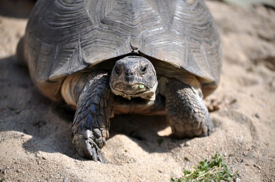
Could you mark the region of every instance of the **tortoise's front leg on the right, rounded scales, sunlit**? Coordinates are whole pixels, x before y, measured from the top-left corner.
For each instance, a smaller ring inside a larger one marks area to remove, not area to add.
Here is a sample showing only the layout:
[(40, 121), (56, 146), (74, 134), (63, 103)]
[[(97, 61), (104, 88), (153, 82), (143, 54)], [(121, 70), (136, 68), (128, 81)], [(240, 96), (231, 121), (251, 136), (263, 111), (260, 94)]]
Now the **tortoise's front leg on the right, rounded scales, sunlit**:
[(210, 135), (213, 124), (202, 98), (189, 85), (173, 80), (167, 84), (166, 113), (178, 138)]

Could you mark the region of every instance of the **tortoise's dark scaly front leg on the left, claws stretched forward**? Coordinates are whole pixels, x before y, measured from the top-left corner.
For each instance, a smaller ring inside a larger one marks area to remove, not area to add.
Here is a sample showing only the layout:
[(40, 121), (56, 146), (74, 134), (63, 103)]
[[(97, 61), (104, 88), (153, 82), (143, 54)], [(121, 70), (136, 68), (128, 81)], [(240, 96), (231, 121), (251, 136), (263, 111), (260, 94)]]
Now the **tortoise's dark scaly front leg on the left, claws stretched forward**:
[(105, 163), (101, 148), (109, 137), (114, 96), (107, 73), (91, 73), (78, 99), (73, 122), (73, 144), (82, 157)]

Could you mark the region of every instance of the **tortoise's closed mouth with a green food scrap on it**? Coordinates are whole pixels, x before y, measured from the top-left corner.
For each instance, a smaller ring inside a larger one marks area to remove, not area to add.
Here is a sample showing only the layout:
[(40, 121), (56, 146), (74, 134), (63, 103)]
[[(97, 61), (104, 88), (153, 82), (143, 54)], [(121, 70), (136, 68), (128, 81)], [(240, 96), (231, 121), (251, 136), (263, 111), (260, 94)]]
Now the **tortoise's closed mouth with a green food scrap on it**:
[(116, 92), (123, 93), (124, 95), (134, 96), (147, 92), (150, 87), (146, 86), (144, 83), (125, 84), (123, 82), (119, 82), (115, 84), (113, 89), (116, 90)]

